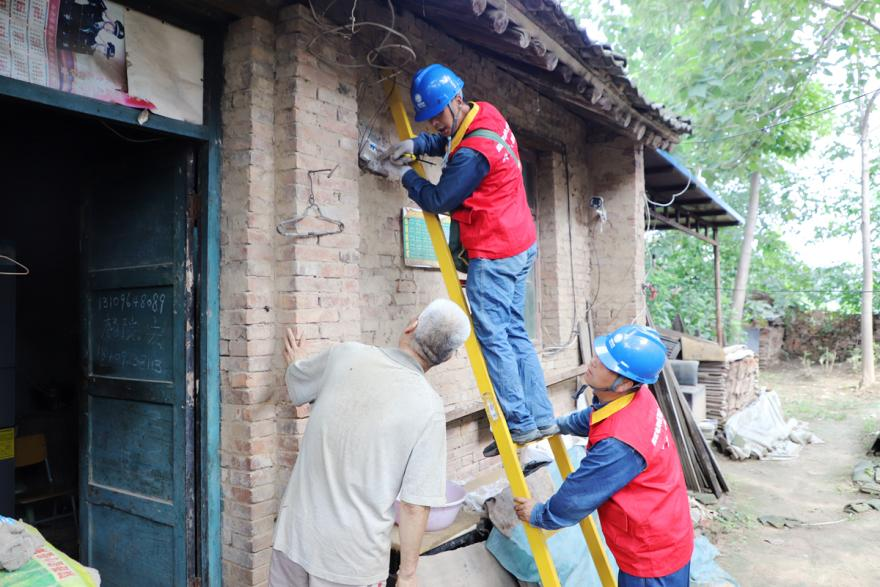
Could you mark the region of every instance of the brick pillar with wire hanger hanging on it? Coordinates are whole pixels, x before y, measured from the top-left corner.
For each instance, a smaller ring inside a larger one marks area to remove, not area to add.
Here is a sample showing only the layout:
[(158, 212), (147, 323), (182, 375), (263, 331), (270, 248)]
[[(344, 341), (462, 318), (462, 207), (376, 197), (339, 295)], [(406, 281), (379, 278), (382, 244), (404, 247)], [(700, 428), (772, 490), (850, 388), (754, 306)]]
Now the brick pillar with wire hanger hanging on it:
[[(276, 27), (276, 221), (314, 214), (314, 208), (307, 212), (313, 197), (325, 216), (345, 227), (340, 234), (321, 237), (275, 234), (276, 334), (281, 338), (285, 328), (295, 327), (305, 344), (319, 351), (334, 342), (360, 339), (358, 106), (356, 80), (306, 51), (317, 29), (304, 10), (283, 10)], [(338, 37), (328, 37), (322, 45), (330, 58), (346, 50)], [(302, 226), (306, 231), (328, 228), (311, 220)], [(279, 361), (283, 371), (280, 356)], [(283, 388), (277, 401), (275, 487), (280, 497), (305, 431), (308, 406), (291, 405)]]

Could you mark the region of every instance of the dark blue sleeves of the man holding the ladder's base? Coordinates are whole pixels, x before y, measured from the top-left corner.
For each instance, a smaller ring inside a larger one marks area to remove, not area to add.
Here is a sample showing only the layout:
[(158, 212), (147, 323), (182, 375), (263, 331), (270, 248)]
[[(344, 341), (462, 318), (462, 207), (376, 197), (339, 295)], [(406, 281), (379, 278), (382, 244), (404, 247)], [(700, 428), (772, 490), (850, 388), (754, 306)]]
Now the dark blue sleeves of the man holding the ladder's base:
[[(560, 431), (588, 436), (590, 417), (603, 405), (594, 398), (589, 408), (558, 418)], [(644, 457), (623, 441), (606, 438), (597, 442), (559, 490), (545, 503), (535, 505), (531, 524), (548, 530), (577, 524), (635, 479), (646, 466)]]

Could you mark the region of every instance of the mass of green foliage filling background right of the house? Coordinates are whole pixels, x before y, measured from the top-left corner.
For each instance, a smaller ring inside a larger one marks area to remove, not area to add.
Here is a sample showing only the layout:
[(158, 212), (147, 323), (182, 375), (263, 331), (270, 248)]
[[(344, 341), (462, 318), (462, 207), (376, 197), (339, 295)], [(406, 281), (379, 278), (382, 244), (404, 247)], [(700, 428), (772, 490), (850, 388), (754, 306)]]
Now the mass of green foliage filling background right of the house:
[[(831, 141), (818, 169), (796, 161), (821, 137), (852, 133), (858, 108), (813, 113), (862, 93), (872, 78), (876, 84), (880, 33), (814, 0), (563, 4), (576, 18), (591, 20), (629, 57), (629, 73), (643, 94), (692, 120), (694, 134), (679, 145), (676, 157), (702, 170), (706, 183), (741, 213), (747, 207), (748, 175), (761, 173), (744, 321), (792, 309), (858, 313), (861, 268), (812, 269), (782, 236), (817, 215), (833, 218), (817, 238), (851, 235), (858, 228), (857, 181), (840, 185), (829, 179), (840, 160), (856, 155), (851, 141)], [(856, 13), (877, 22), (880, 2), (861, 2)], [(846, 84), (840, 83), (841, 71)], [(872, 157), (876, 185), (880, 157), (877, 152)], [(875, 207), (874, 230), (880, 234), (880, 204)], [(741, 240), (741, 229), (722, 230), (719, 236), (724, 309), (730, 307)], [(880, 259), (880, 238), (874, 243)], [(689, 331), (714, 335), (711, 247), (666, 231), (651, 238), (648, 250), (647, 281), (657, 288), (649, 303), (655, 321), (669, 325), (679, 314)], [(875, 305), (878, 301), (880, 295)]]

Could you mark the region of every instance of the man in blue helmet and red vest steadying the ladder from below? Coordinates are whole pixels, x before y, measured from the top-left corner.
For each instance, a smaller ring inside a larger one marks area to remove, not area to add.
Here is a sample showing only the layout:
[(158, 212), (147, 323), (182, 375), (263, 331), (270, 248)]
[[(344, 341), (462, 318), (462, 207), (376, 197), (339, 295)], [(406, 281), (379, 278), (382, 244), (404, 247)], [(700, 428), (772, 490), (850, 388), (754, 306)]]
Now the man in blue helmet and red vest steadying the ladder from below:
[(657, 381), (666, 347), (656, 330), (624, 326), (596, 338), (595, 348), (584, 376), (593, 405), (557, 419), (563, 434), (589, 437), (587, 456), (545, 503), (515, 498), (517, 516), (555, 530), (598, 509), (619, 587), (687, 587), (694, 548), (687, 489), (646, 385)]

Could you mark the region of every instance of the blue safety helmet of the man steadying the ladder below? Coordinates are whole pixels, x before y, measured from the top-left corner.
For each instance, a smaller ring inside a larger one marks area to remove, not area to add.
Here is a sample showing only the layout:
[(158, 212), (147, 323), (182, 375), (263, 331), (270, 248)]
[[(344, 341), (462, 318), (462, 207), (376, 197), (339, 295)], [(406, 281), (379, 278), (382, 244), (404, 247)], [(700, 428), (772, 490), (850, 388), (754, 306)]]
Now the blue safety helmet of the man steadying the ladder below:
[(595, 346), (603, 365), (638, 383), (657, 381), (666, 362), (666, 345), (653, 328), (621, 326), (607, 336), (597, 336)]

